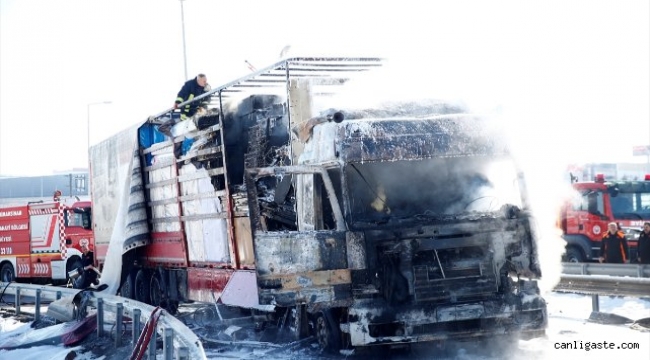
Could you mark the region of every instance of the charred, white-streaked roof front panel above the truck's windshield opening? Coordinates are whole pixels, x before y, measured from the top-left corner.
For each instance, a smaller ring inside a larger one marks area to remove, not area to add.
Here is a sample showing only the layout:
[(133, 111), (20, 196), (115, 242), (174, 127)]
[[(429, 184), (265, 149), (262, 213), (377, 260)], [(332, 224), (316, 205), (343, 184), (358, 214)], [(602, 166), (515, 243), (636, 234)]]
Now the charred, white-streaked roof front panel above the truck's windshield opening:
[(343, 161), (395, 161), (506, 153), (485, 120), (474, 116), (438, 119), (344, 121), (337, 135)]

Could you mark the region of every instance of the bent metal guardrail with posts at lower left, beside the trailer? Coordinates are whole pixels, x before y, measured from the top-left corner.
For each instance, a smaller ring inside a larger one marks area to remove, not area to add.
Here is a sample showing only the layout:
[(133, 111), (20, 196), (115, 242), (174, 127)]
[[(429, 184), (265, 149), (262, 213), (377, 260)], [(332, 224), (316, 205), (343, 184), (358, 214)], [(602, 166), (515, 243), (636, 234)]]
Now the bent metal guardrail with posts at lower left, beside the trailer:
[[(5, 288), (6, 287), (6, 288)], [(23, 295), (33, 295), (35, 298), (35, 319), (40, 317), (40, 304), (43, 300), (55, 301), (62, 297), (74, 296), (79, 293), (77, 289), (62, 288), (56, 286), (45, 285), (31, 285), (31, 284), (18, 284), (18, 283), (3, 283), (0, 282), (0, 291), (4, 290), (5, 294), (12, 294), (15, 296), (16, 313), (20, 313), (21, 297)], [(104, 312), (109, 311), (115, 314), (116, 333), (121, 332), (121, 320), (123, 316), (133, 319), (133, 345), (135, 346), (142, 327), (139, 324), (144, 324), (149, 320), (149, 317), (154, 311), (154, 307), (119, 296), (103, 294), (101, 292), (93, 293), (90, 299), (90, 306), (97, 308), (97, 334), (103, 335), (103, 318)], [(136, 328), (137, 331), (136, 331)], [(200, 339), (192, 332), (183, 322), (175, 317), (163, 312), (162, 316), (158, 319), (156, 326), (156, 333), (160, 334), (164, 343), (165, 360), (173, 359), (173, 349), (176, 349), (177, 359), (206, 359), (205, 350)], [(121, 345), (121, 337), (116, 336), (116, 346)], [(149, 343), (148, 353), (156, 358), (156, 341), (152, 339)]]

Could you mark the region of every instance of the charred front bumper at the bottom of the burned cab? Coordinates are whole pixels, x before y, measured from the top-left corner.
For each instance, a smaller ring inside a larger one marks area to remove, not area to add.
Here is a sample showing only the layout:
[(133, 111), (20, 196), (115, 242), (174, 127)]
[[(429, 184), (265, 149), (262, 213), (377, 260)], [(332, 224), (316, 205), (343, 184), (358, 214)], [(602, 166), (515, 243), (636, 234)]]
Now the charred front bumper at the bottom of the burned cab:
[(351, 343), (398, 344), (544, 331), (546, 304), (539, 295), (522, 291), (506, 299), (400, 307), (357, 301), (349, 310)]

